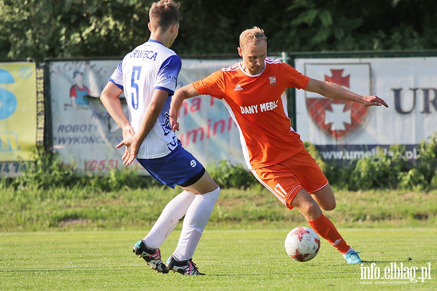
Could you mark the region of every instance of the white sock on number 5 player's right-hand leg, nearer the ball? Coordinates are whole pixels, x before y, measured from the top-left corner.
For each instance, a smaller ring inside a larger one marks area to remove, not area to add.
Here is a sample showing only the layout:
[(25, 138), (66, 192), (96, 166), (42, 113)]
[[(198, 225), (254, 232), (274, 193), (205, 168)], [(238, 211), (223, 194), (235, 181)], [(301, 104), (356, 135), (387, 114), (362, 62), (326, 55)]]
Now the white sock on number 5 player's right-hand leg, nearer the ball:
[(193, 258), (194, 251), (202, 237), (203, 229), (211, 216), (219, 194), (220, 188), (218, 187), (210, 193), (196, 195), (193, 203), (186, 211), (181, 236), (173, 253), (174, 259), (185, 261)]

